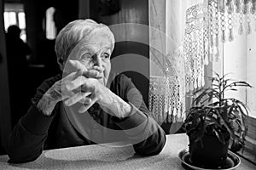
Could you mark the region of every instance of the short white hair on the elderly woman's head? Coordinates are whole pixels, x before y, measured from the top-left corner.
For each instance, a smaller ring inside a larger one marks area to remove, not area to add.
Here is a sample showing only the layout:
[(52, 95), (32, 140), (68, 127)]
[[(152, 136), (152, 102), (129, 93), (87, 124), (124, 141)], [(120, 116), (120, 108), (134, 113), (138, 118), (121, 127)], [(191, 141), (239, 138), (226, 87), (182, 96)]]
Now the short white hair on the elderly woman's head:
[(67, 60), (68, 55), (81, 40), (89, 39), (98, 32), (103, 32), (107, 35), (113, 51), (113, 32), (110, 31), (108, 26), (96, 23), (96, 21), (90, 19), (74, 20), (68, 23), (67, 26), (60, 31), (55, 41), (55, 54), (59, 64), (61, 60)]

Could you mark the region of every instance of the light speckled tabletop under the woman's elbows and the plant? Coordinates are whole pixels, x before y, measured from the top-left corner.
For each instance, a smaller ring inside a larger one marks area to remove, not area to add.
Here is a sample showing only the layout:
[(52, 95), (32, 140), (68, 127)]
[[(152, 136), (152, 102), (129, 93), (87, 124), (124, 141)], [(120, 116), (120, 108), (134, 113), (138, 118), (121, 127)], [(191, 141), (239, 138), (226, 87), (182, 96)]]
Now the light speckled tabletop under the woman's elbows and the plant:
[[(137, 156), (132, 146), (109, 147), (101, 144), (44, 150), (36, 161), (9, 164), (8, 156), (0, 156), (0, 169), (184, 169), (178, 158), (180, 150), (188, 147), (186, 134), (166, 135), (166, 145), (157, 156)], [(255, 170), (256, 166), (241, 158), (240, 170)]]

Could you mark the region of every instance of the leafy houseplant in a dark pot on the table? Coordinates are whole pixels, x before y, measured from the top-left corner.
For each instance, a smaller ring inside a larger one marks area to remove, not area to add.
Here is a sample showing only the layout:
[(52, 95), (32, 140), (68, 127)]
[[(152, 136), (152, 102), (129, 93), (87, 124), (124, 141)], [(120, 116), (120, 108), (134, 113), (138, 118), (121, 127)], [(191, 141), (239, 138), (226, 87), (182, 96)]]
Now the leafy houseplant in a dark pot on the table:
[(202, 167), (224, 165), (230, 141), (243, 146), (247, 134), (247, 106), (239, 99), (225, 98), (225, 93), (251, 85), (215, 74), (216, 77), (211, 77), (211, 87), (193, 93), (196, 97), (184, 122), (190, 161)]

